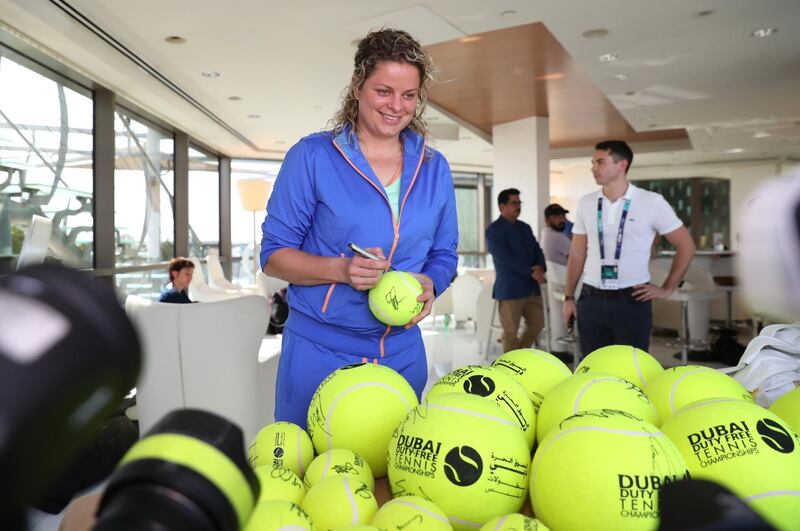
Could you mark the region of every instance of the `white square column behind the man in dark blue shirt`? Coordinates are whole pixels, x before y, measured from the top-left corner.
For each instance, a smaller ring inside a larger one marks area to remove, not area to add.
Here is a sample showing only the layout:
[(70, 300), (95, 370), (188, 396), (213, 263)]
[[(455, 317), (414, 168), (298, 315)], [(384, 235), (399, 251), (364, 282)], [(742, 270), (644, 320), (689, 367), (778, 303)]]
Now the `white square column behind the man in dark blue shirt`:
[(497, 194), (506, 188), (516, 188), (523, 202), (520, 219), (533, 228), (537, 239), (544, 226), (544, 207), (550, 204), (548, 135), (548, 119), (536, 116), (492, 128), (492, 220), (500, 215)]

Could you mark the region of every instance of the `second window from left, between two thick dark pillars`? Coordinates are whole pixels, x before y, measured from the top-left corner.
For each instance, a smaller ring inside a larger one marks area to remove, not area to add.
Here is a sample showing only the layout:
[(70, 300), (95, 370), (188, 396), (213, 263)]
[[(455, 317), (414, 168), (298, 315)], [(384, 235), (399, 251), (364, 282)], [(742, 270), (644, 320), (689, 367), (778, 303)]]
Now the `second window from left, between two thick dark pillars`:
[(170, 260), (175, 256), (172, 135), (122, 108), (114, 129), (116, 265)]

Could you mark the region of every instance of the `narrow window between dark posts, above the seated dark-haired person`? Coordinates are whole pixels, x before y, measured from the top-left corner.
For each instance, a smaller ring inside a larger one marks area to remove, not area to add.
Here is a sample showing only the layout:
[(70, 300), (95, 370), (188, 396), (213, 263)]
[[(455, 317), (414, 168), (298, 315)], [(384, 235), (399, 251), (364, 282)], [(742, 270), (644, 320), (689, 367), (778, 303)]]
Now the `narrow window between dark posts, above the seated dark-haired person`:
[(189, 254), (219, 251), (219, 159), (189, 147)]

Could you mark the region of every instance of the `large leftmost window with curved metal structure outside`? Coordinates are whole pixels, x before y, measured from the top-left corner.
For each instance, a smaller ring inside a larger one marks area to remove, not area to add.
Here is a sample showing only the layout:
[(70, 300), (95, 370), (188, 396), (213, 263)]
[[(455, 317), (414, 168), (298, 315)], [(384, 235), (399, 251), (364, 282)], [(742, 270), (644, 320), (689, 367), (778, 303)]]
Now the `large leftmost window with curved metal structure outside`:
[(48, 257), (93, 266), (93, 112), (90, 91), (0, 46), (0, 273), (34, 215), (52, 221)]

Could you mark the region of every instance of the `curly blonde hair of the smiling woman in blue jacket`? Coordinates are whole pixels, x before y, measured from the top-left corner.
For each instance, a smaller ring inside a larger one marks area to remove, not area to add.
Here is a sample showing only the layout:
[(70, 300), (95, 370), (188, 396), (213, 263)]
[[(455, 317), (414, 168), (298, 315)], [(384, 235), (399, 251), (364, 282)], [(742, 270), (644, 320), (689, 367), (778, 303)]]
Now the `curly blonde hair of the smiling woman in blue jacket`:
[(428, 89), (434, 78), (435, 67), (422, 45), (411, 35), (398, 29), (371, 31), (359, 41), (353, 66), (353, 80), (342, 92), (342, 106), (331, 120), (333, 133), (338, 134), (349, 126), (350, 134), (356, 134), (358, 100), (355, 89), (364, 86), (364, 81), (382, 61), (408, 63), (417, 67), (420, 80), (417, 110), (408, 127), (423, 137), (427, 136), (428, 127), (422, 115), (428, 103)]

